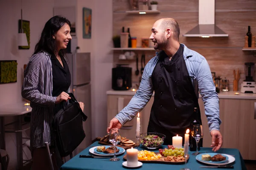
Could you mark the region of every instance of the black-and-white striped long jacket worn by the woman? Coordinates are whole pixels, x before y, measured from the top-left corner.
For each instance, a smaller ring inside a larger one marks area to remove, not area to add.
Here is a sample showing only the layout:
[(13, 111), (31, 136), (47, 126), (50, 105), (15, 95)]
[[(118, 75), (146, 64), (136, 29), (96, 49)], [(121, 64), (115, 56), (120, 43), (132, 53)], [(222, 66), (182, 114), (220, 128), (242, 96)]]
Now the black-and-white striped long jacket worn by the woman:
[[(67, 62), (66, 59), (65, 61)], [(45, 142), (50, 146), (55, 144), (52, 121), (57, 97), (52, 96), (52, 88), (51, 55), (45, 51), (33, 54), (24, 71), (21, 91), (22, 97), (29, 100), (32, 107), (30, 122), (32, 148), (44, 147)]]

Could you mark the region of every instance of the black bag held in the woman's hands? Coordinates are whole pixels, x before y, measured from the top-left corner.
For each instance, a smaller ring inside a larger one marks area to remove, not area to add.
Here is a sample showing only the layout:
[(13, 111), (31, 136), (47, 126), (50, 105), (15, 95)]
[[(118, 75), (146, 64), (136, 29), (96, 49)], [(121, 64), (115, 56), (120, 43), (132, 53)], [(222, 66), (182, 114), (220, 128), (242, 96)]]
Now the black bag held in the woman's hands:
[(81, 110), (74, 95), (72, 93), (69, 95), (71, 99), (66, 105), (62, 105), (53, 119), (56, 145), (61, 157), (70, 155), (85, 137), (83, 121), (86, 121), (87, 116)]

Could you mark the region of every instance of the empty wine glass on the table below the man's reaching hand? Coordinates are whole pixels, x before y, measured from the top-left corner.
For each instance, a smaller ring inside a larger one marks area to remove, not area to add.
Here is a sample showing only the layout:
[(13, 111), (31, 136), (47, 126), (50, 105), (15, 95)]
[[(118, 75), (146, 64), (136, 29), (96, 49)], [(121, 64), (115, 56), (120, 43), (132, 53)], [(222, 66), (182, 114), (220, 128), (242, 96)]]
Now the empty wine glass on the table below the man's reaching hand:
[(109, 142), (114, 146), (114, 157), (110, 161), (119, 161), (119, 158), (116, 158), (116, 144), (121, 142), (120, 129), (112, 128), (109, 132)]

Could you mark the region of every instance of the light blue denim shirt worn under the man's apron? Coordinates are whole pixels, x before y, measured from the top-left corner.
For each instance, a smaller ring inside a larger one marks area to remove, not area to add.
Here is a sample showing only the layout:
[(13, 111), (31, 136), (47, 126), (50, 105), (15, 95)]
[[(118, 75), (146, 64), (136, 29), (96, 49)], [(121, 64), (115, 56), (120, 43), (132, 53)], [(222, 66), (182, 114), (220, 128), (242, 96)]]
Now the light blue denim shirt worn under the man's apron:
[[(189, 72), (189, 77), (198, 97), (198, 92), (204, 102), (205, 115), (207, 116), (209, 130), (220, 130), (221, 119), (219, 118), (219, 99), (215, 91), (215, 85), (212, 81), (212, 74), (206, 59), (186, 45), (181, 44), (184, 48), (183, 57)], [(150, 100), (153, 94), (153, 85), (151, 75), (155, 65), (158, 62), (161, 51), (145, 65), (140, 88), (133, 96), (129, 104), (122, 109), (115, 117), (124, 125), (131, 121), (134, 116), (140, 112)]]

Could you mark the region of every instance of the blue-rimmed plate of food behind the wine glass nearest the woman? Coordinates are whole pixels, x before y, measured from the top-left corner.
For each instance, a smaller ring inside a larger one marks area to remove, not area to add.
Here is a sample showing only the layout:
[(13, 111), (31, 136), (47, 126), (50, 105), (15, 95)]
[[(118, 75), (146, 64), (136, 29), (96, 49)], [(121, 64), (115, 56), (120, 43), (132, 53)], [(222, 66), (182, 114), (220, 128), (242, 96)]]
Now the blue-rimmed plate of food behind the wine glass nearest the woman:
[[(90, 153), (98, 156), (112, 156), (114, 155), (114, 147), (113, 146), (96, 146), (92, 147), (89, 150)], [(125, 149), (122, 147), (116, 147), (116, 155), (122, 154), (125, 152)]]

